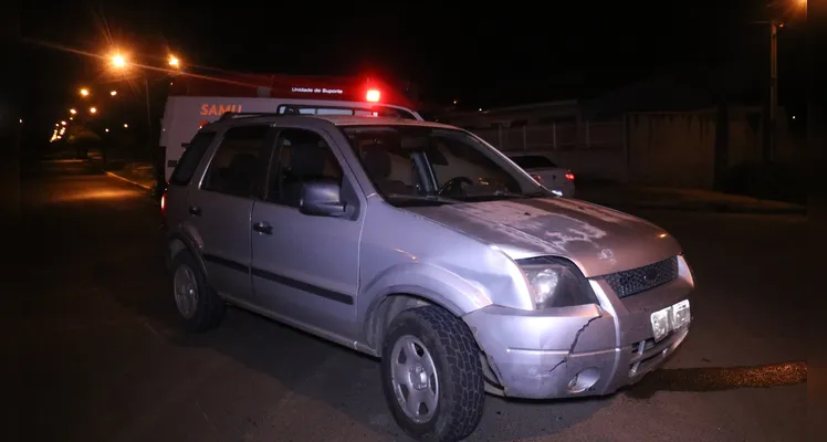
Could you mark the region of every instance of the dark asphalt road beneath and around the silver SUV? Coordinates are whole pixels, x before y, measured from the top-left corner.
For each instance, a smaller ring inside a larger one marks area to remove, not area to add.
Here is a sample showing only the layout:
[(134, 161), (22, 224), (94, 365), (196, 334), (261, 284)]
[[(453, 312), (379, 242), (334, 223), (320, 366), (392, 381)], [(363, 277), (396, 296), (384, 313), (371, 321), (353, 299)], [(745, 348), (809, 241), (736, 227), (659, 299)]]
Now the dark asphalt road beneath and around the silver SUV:
[[(0, 439), (407, 440), (370, 358), (238, 309), (217, 330), (181, 333), (155, 249), (158, 208), (82, 162), (39, 170), (13, 233), (25, 246), (4, 264)], [(471, 440), (803, 440), (806, 220), (638, 214), (676, 235), (693, 266), (685, 345), (611, 397), (489, 397)]]

